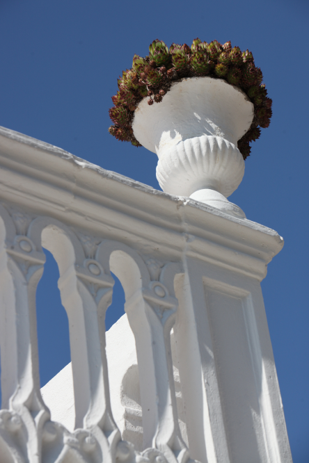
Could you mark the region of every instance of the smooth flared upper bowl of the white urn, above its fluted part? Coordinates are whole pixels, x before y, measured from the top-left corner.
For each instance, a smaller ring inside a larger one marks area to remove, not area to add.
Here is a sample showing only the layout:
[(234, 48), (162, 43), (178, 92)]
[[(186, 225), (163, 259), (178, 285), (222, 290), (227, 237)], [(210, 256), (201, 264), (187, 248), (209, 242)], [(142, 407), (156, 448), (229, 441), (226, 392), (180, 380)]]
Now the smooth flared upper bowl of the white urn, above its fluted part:
[(221, 136), (237, 146), (253, 117), (254, 105), (241, 88), (213, 76), (193, 76), (173, 82), (159, 104), (149, 106), (143, 98), (132, 129), (138, 142), (160, 157), (168, 145), (196, 136)]

